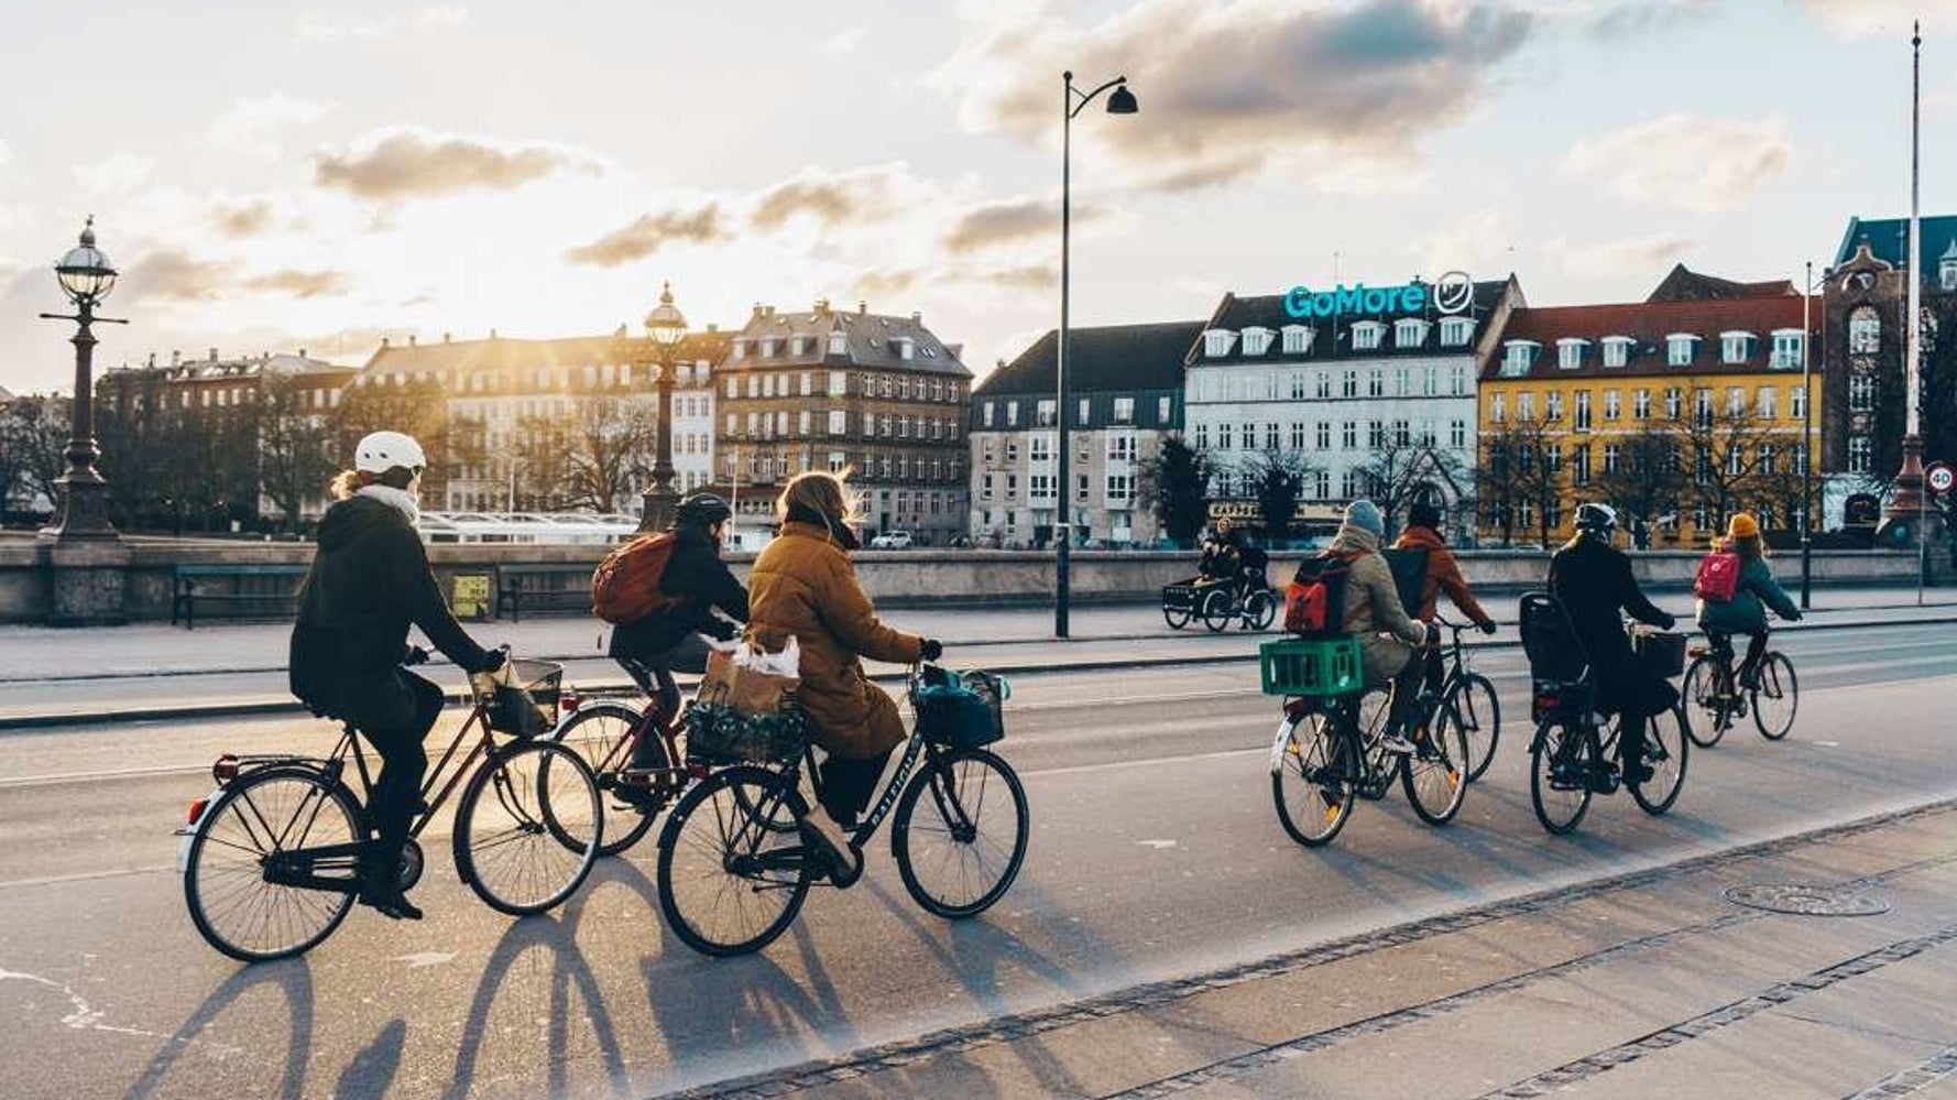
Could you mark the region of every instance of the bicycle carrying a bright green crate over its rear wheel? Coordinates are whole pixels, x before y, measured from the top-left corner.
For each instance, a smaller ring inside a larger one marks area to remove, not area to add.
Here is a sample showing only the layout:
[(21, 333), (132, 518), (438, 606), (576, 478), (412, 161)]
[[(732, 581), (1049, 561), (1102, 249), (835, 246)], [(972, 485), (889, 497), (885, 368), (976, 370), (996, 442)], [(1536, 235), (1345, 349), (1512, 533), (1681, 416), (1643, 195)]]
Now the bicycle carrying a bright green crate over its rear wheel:
[[(1356, 673), (1356, 646), (1352, 652)], [(1266, 683), (1272, 679), (1266, 675)], [(1278, 824), (1305, 848), (1331, 844), (1352, 816), (1354, 797), (1384, 799), (1395, 775), (1423, 822), (1444, 826), (1462, 808), (1468, 738), (1454, 705), (1438, 699), (1415, 752), (1391, 754), (1384, 746), (1386, 722), (1362, 714), (1368, 695), (1346, 689), (1284, 701), (1284, 720), (1270, 744), (1270, 797)]]

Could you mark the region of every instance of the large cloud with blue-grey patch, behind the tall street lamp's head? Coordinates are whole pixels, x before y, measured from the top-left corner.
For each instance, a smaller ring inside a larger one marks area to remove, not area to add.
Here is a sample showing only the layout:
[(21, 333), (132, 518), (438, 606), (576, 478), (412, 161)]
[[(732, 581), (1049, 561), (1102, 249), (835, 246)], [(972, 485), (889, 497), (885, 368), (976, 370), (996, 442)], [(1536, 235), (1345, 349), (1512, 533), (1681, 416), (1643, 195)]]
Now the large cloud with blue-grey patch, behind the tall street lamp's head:
[(1055, 72), (1125, 72), (1141, 114), (1082, 117), (1076, 137), (1164, 190), (1327, 157), (1413, 164), (1417, 141), (1464, 119), (1536, 25), (1513, 0), (1143, 0), (1090, 29), (1055, 4), (965, 16), (930, 82), (963, 96), (969, 129), (1051, 141)]

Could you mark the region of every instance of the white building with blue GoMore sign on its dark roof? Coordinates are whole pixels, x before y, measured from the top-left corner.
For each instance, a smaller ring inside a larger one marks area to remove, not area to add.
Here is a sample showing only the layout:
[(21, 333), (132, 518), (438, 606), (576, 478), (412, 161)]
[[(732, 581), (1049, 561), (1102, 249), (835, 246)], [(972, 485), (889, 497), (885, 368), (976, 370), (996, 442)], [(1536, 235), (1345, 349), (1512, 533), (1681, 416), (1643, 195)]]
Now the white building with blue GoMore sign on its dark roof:
[(1282, 462), (1303, 472), (1305, 532), (1335, 528), (1356, 497), (1388, 511), (1425, 497), (1460, 517), (1452, 534), (1472, 534), (1476, 368), (1525, 299), (1513, 276), (1456, 286), (1450, 301), (1421, 282), (1223, 296), (1184, 372), (1186, 436), (1213, 472), (1211, 513), (1256, 517), (1254, 481)]

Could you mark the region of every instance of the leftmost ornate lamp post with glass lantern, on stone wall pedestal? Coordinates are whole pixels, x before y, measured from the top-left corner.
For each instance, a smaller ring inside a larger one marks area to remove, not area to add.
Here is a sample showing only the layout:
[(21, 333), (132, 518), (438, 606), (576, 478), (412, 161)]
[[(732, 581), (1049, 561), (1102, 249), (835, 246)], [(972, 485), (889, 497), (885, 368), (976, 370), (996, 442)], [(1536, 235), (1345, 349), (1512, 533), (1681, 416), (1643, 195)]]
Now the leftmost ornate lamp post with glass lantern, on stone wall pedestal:
[(115, 266), (96, 249), (96, 219), (82, 227), (82, 239), (67, 256), (55, 264), (55, 278), (61, 280), (63, 294), (74, 303), (74, 313), (41, 313), (49, 321), (74, 321), (74, 429), (68, 435), (68, 472), (55, 483), (61, 485), (61, 517), (53, 527), (41, 530), (43, 538), (117, 538), (115, 525), (110, 523), (108, 480), (96, 470), (102, 448), (96, 446), (96, 335), (90, 329), (96, 321), (104, 325), (127, 325), (114, 317), (96, 317), (96, 305), (115, 288)]

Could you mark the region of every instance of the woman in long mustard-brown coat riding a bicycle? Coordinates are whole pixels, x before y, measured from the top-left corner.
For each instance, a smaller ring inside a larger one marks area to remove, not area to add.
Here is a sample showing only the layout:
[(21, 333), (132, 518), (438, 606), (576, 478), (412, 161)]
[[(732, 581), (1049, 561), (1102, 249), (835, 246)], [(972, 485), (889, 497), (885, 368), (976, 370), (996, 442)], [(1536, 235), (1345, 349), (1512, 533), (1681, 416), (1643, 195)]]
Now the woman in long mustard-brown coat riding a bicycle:
[(795, 476), (775, 501), (781, 534), (755, 558), (748, 636), (765, 650), (796, 638), (802, 650), (796, 701), (808, 736), (824, 750), (822, 806), (802, 820), (804, 840), (824, 851), (830, 877), (855, 881), (861, 857), (849, 848), (857, 814), (904, 744), (896, 701), (863, 673), (861, 658), (890, 664), (935, 662), (943, 646), (892, 630), (857, 583), (849, 552), (859, 548), (855, 495), (828, 472)]

